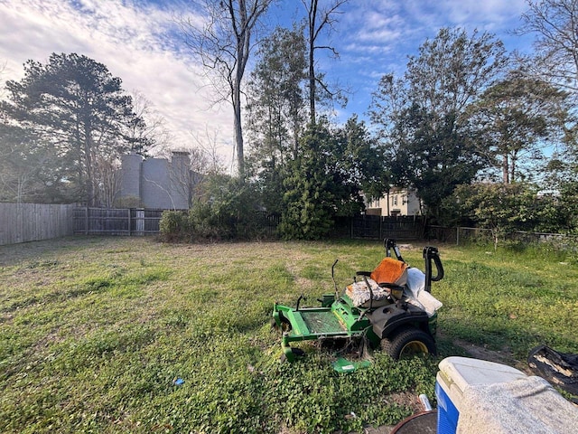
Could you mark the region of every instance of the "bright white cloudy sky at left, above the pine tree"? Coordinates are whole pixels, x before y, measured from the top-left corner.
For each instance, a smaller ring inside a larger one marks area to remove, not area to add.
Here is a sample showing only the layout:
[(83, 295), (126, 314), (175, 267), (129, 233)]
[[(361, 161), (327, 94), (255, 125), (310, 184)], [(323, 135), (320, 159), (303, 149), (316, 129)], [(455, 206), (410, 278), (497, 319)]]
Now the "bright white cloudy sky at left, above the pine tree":
[(46, 62), (52, 52), (77, 52), (107, 65), (126, 91), (149, 99), (175, 137), (190, 146), (191, 131), (219, 131), (230, 156), (228, 105), (210, 107), (202, 71), (179, 47), (179, 11), (117, 0), (0, 0), (0, 64), (4, 80), (20, 80), (23, 62)]

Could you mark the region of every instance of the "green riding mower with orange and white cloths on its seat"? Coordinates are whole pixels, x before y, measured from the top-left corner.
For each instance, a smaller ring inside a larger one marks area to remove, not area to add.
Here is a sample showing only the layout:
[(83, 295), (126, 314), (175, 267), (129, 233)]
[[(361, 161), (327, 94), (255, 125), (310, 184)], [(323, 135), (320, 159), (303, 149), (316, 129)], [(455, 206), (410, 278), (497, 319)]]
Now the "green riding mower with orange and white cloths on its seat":
[[(335, 292), (318, 299), (320, 306), (301, 307), (303, 296), (295, 307), (275, 303), (273, 318), (275, 328), (282, 332), (282, 360), (293, 362), (303, 356), (301, 348), (291, 346), (303, 341), (339, 348), (381, 347), (394, 359), (436, 354), (436, 311), (442, 304), (431, 295), (431, 287), (443, 278), (439, 252), (434, 247), (424, 248), (422, 272), (408, 266), (395, 241), (385, 240), (384, 248), (386, 256), (378, 267), (358, 271), (344, 291), (335, 282), (335, 260), (331, 267)], [(341, 360), (342, 371), (357, 367)]]

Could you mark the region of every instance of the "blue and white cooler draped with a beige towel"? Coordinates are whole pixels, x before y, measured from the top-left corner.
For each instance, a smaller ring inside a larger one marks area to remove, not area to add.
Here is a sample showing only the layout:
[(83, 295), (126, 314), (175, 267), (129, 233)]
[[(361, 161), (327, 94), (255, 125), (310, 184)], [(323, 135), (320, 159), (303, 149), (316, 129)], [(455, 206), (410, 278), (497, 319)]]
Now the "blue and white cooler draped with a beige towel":
[(439, 368), (438, 434), (576, 432), (578, 408), (543, 378), (467, 357), (448, 357)]

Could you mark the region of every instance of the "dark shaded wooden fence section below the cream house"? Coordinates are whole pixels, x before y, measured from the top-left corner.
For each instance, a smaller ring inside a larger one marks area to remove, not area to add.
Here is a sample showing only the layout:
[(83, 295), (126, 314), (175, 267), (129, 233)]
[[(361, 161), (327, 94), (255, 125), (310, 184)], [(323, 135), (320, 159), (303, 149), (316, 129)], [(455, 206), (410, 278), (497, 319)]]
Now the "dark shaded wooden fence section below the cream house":
[(421, 215), (359, 215), (351, 222), (351, 238), (421, 240), (424, 230), (425, 217)]

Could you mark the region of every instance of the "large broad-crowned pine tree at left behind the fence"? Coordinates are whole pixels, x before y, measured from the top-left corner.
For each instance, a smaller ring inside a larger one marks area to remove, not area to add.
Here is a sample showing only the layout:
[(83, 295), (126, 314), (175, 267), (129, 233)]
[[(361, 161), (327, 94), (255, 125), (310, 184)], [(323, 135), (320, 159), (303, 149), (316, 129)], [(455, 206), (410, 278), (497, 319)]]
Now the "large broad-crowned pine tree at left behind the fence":
[(23, 79), (8, 81), (6, 89), (9, 98), (0, 105), (5, 125), (27, 131), (20, 143), (24, 156), (51, 156), (42, 164), (57, 174), (50, 184), (52, 190), (58, 184), (57, 200), (101, 204), (110, 193), (101, 191), (109, 184), (101, 177), (110, 171), (99, 165), (149, 145), (135, 138), (144, 120), (135, 115), (121, 80), (84, 55), (53, 53), (46, 64), (27, 61)]

